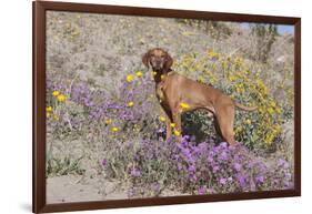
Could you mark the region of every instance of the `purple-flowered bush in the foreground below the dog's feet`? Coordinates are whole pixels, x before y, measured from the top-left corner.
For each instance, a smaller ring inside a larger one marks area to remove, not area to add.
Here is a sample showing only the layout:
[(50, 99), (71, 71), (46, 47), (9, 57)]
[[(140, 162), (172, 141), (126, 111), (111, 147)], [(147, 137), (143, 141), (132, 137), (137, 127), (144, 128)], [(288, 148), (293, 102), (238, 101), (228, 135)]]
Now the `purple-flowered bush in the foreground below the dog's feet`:
[(142, 141), (118, 144), (104, 170), (130, 182), (130, 196), (158, 196), (163, 190), (188, 194), (212, 194), (283, 190), (292, 187), (289, 164), (272, 165), (258, 160), (243, 146), (227, 143), (197, 144), (189, 136), (174, 141)]

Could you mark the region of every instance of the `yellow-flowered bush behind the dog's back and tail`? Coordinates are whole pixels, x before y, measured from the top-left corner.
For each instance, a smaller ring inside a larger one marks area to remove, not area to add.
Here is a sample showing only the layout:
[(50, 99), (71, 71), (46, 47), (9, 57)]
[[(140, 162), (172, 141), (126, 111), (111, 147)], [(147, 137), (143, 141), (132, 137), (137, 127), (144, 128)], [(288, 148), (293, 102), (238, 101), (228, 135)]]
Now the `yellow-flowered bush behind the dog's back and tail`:
[[(289, 115), (289, 108), (293, 106), (291, 95), (283, 101), (276, 101), (263, 81), (263, 72), (253, 70), (242, 58), (209, 49), (204, 55), (183, 54), (174, 63), (174, 70), (199, 82), (212, 84), (239, 103), (259, 106), (254, 112), (236, 111), (234, 131), (238, 141), (250, 149), (270, 149), (280, 141), (281, 125), (292, 118)], [(200, 113), (193, 119), (199, 120), (193, 121), (195, 124), (205, 124), (207, 116)], [(208, 135), (215, 135), (211, 125), (203, 129)]]

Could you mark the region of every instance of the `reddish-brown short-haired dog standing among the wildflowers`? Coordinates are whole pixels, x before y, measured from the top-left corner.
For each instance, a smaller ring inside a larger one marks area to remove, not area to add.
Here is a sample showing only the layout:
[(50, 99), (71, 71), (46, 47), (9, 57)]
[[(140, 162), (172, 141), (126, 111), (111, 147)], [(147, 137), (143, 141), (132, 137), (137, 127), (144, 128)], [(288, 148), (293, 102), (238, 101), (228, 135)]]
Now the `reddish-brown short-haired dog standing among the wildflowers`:
[[(258, 106), (248, 108), (234, 103), (230, 96), (211, 85), (204, 85), (171, 70), (172, 58), (160, 48), (149, 50), (142, 58), (143, 63), (154, 73), (157, 98), (167, 114), (167, 139), (181, 133), (181, 113), (197, 109), (205, 109), (213, 113), (222, 137), (235, 145), (233, 132), (235, 106), (254, 111)], [(174, 124), (172, 124), (174, 123)], [(180, 139), (181, 140), (181, 139)]]

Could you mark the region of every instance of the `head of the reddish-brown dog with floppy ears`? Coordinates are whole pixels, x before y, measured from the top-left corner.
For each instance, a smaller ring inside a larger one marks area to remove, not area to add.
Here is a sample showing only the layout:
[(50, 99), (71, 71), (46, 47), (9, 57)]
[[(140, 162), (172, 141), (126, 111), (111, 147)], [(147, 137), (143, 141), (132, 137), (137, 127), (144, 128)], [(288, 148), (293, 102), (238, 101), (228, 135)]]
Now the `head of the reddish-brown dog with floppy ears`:
[(172, 58), (167, 51), (161, 48), (154, 48), (149, 50), (143, 57), (142, 62), (149, 69), (152, 67), (153, 71), (157, 72), (168, 72), (172, 65)]

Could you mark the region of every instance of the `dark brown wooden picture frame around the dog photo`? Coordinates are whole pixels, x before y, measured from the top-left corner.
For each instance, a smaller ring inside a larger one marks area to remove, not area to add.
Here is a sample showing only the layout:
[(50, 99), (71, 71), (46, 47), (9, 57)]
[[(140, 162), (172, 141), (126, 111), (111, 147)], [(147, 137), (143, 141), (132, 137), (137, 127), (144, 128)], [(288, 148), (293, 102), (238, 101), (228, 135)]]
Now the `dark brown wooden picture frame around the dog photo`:
[[(118, 7), (104, 4), (33, 1), (33, 163), (32, 163), (32, 212), (66, 212), (99, 208), (135, 207), (151, 205), (170, 205), (219, 201), (254, 200), (270, 197), (289, 197), (301, 195), (301, 19), (294, 17), (273, 17), (259, 14), (239, 14), (171, 10), (137, 7)], [(215, 21), (268, 22), (293, 24), (294, 40), (294, 188), (252, 193), (232, 193), (194, 196), (170, 196), (155, 198), (135, 198), (117, 201), (97, 201), (64, 204), (46, 203), (46, 11), (71, 11), (90, 13), (110, 13), (123, 16), (145, 16), (163, 18), (209, 19)]]

